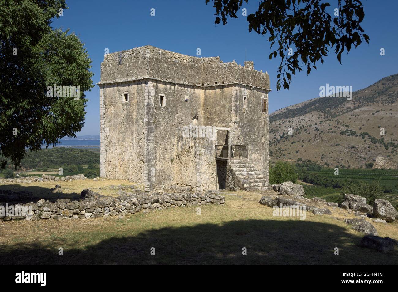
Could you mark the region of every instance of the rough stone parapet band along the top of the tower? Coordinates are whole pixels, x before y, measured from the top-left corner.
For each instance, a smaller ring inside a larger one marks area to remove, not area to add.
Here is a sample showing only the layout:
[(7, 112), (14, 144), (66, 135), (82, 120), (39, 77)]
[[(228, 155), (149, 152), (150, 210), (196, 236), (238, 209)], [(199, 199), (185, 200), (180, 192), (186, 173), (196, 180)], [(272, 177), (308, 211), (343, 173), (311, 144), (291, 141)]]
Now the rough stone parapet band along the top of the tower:
[[(121, 63), (121, 65), (119, 65)], [(152, 46), (108, 54), (101, 64), (101, 82), (153, 78), (196, 86), (241, 83), (269, 88), (268, 74), (223, 63), (219, 57), (198, 58)]]

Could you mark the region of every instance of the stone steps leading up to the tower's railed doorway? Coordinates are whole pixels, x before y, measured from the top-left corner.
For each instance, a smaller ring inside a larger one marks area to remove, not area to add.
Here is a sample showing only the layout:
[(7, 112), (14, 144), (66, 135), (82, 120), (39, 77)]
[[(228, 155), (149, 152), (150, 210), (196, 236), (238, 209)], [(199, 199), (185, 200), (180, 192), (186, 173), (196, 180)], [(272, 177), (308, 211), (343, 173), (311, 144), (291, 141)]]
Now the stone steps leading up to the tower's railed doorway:
[(250, 159), (231, 159), (228, 164), (241, 189), (247, 191), (273, 190), (273, 187), (265, 182), (264, 176)]

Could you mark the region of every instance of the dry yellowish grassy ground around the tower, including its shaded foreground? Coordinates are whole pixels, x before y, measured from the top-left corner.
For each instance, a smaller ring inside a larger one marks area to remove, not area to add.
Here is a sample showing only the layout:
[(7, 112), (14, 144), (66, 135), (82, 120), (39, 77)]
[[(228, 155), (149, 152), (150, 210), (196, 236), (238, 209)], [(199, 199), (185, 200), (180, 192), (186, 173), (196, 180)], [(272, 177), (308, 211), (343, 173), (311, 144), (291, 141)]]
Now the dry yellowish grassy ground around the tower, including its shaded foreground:
[[(123, 181), (60, 183), (64, 197)], [(49, 188), (45, 182), (0, 188)], [(131, 183), (123, 182), (128, 185)], [(48, 190), (47, 190), (48, 191)], [(115, 194), (114, 190), (99, 190)], [(41, 194), (41, 193), (40, 193)], [(275, 193), (276, 194), (276, 193)], [(359, 247), (363, 234), (332, 216), (274, 217), (259, 193), (226, 192), (225, 206), (175, 208), (88, 220), (0, 222), (0, 257), (10, 264), (397, 264), (398, 251)], [(398, 224), (374, 223), (380, 236), (398, 239)], [(63, 255), (59, 255), (59, 248)], [(151, 248), (155, 255), (151, 255)], [(246, 247), (247, 255), (242, 255)], [(339, 255), (334, 255), (334, 248)]]

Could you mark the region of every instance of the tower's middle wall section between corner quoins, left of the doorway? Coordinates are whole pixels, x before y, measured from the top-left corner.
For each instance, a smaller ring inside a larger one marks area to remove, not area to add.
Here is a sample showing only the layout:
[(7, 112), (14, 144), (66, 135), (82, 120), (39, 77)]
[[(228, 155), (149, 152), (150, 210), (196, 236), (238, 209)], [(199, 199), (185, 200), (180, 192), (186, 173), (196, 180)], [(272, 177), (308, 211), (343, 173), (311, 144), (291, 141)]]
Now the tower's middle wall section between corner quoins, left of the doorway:
[[(214, 130), (230, 126), (231, 90), (230, 87), (202, 90), (154, 82), (156, 188), (170, 185), (189, 186), (198, 191), (214, 188), (217, 143)], [(166, 99), (164, 106), (159, 105), (161, 94)], [(197, 129), (196, 126), (203, 131), (186, 135), (187, 128)]]

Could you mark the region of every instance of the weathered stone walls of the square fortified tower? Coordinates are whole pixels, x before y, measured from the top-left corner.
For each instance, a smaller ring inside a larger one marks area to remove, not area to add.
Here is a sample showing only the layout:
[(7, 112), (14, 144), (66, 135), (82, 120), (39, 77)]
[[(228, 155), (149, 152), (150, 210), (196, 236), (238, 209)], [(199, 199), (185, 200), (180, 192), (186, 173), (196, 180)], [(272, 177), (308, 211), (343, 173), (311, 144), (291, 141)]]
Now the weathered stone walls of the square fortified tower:
[[(267, 178), (268, 112), (261, 111), (261, 96), (269, 92), (269, 76), (253, 68), (151, 46), (105, 56), (101, 176), (139, 182), (146, 190), (213, 188), (215, 144), (225, 133), (183, 135), (184, 127), (208, 126), (230, 129), (230, 144), (248, 145), (249, 158)], [(163, 106), (159, 95), (165, 96)]]

